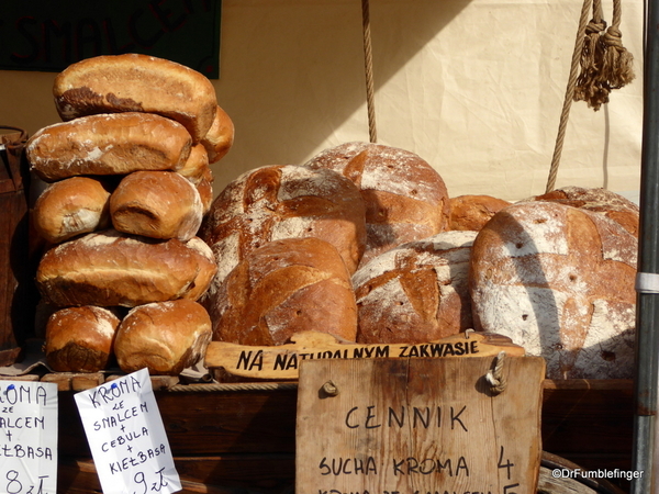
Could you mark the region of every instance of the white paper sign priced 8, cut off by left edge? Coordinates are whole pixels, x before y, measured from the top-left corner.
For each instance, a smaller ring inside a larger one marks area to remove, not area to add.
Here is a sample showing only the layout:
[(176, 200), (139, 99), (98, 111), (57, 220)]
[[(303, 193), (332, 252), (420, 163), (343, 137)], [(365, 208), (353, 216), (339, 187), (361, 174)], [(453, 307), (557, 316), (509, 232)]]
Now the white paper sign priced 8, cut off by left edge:
[(0, 382), (0, 493), (57, 492), (57, 384)]

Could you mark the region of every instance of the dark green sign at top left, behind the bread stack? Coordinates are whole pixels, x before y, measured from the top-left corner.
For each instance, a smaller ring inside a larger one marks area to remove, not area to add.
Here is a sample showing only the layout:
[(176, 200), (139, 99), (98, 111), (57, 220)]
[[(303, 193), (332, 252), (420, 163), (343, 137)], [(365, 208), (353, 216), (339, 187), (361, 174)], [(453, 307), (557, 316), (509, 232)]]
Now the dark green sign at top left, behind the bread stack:
[(220, 74), (222, 0), (2, 2), (0, 69), (59, 72), (99, 55), (141, 53)]

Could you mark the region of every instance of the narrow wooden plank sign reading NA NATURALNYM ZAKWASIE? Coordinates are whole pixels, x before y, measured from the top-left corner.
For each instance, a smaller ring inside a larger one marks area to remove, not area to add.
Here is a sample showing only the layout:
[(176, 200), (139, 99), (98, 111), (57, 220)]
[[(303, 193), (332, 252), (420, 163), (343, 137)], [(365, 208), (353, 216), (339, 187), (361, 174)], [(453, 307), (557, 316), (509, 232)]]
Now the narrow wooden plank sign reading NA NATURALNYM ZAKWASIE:
[(298, 369), (304, 360), (489, 357), (500, 351), (524, 355), (524, 348), (506, 336), (477, 332), (417, 345), (358, 345), (319, 332), (299, 333), (291, 340), (290, 345), (276, 347), (212, 341), (206, 349), (204, 366), (222, 368), (242, 378), (286, 381), (298, 379)]

